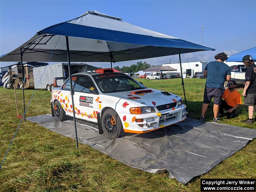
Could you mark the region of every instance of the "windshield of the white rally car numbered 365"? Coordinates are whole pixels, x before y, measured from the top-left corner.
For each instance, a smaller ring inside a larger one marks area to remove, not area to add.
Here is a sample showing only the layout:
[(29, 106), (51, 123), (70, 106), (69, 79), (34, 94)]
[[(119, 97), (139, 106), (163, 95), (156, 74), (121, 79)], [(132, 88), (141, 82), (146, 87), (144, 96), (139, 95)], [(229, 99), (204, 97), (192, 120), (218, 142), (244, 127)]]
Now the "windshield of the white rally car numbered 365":
[(102, 93), (114, 93), (146, 88), (141, 83), (122, 73), (93, 76)]

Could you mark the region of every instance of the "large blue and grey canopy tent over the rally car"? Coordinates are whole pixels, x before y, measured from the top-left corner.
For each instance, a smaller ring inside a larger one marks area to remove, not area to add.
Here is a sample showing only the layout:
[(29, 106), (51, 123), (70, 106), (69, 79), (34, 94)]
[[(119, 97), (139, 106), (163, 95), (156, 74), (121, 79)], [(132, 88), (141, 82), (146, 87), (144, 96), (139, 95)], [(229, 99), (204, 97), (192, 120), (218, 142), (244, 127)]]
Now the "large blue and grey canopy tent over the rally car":
[[(172, 36), (157, 33), (148, 29), (121, 21), (98, 11), (86, 11), (72, 20), (47, 27), (36, 33), (20, 47), (0, 56), (0, 61), (21, 61), (23, 82), (23, 60), (72, 62), (111, 62), (145, 59), (207, 51), (215, 49), (199, 45)], [(181, 58), (180, 58), (181, 68)], [(182, 78), (183, 93), (186, 94)], [(23, 86), (24, 87), (24, 86)], [(70, 84), (72, 105), (73, 87)], [(23, 88), (23, 105), (25, 102)], [(75, 110), (73, 118), (76, 130)], [(99, 118), (98, 118), (99, 119)], [(78, 148), (77, 132), (76, 147)]]

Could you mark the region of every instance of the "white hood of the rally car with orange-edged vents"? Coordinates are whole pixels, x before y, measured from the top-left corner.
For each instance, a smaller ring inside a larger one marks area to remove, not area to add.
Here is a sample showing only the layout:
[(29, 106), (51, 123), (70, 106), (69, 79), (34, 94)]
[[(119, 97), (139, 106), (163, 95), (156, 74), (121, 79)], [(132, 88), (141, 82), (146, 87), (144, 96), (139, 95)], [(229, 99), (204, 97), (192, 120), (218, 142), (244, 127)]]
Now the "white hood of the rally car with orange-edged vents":
[(170, 95), (164, 94), (165, 91), (157, 89), (139, 89), (134, 91), (122, 91), (117, 93), (108, 93), (106, 95), (116, 98), (126, 99), (139, 107), (157, 107), (159, 105), (170, 104), (178, 102), (181, 97), (170, 93)]

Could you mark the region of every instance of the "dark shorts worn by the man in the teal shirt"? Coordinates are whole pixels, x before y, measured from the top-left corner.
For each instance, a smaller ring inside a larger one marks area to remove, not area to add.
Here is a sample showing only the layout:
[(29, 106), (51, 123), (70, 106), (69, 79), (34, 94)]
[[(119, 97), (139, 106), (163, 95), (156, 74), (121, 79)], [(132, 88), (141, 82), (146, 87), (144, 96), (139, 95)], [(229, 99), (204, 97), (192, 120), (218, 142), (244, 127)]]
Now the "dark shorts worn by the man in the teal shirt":
[(220, 105), (221, 104), (221, 98), (222, 95), (224, 94), (224, 89), (220, 88), (211, 88), (211, 87), (206, 87), (204, 89), (204, 103), (209, 104), (211, 103), (211, 100), (213, 98), (213, 103), (215, 105)]

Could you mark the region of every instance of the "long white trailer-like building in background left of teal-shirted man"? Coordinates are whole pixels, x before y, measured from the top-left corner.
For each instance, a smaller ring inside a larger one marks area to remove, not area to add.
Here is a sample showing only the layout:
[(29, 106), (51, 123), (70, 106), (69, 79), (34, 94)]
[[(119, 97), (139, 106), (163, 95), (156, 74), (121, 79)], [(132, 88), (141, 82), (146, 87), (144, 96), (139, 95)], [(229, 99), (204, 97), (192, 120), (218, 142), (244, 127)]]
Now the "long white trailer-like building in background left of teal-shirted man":
[[(204, 71), (204, 68), (207, 65), (207, 61), (181, 63), (181, 65), (182, 65), (183, 76), (186, 74), (186, 77), (193, 77), (196, 72)], [(180, 63), (163, 64), (162, 66), (170, 66), (174, 69), (177, 69), (177, 73), (181, 74), (180, 73)]]

